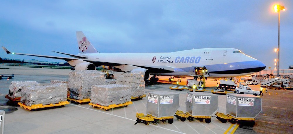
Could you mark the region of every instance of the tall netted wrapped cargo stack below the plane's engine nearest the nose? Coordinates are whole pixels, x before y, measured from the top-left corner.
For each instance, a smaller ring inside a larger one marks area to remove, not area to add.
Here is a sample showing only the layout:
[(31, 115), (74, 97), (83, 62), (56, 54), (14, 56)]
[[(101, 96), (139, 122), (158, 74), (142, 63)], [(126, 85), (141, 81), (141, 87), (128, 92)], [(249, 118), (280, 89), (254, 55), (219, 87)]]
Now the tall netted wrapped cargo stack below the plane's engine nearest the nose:
[(123, 73), (117, 77), (116, 84), (128, 85), (131, 87), (132, 97), (144, 95), (144, 75), (142, 72)]

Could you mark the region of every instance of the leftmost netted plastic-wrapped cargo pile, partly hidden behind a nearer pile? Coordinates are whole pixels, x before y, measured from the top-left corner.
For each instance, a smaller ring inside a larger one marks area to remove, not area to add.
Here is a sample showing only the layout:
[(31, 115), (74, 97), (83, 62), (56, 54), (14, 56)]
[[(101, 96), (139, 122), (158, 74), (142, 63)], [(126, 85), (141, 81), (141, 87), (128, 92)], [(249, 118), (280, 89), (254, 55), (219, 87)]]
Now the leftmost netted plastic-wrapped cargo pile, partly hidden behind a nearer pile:
[(42, 86), (42, 84), (36, 81), (12, 81), (9, 86), (8, 96), (11, 98), (21, 97), (22, 86), (30, 85), (30, 86)]

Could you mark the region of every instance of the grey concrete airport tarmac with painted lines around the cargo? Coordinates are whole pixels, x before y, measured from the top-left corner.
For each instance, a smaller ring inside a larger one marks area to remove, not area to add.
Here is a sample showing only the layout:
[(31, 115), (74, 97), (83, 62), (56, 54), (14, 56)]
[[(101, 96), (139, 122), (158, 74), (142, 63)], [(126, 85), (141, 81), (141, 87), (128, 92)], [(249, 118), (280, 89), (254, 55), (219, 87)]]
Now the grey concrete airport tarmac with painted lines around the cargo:
[[(109, 111), (93, 108), (88, 104), (68, 104), (61, 108), (28, 111), (19, 106), (8, 105), (8, 94), (11, 81), (35, 80), (41, 84), (50, 84), (50, 80), (68, 80), (70, 70), (28, 68), (21, 66), (2, 66), (0, 74), (15, 74), (11, 80), (0, 80), (0, 109), (6, 110), (4, 133), (292, 133), (292, 94), (293, 91), (268, 90), (263, 95), (263, 111), (257, 116), (255, 125), (239, 126), (230, 122), (222, 123), (217, 118), (212, 118), (211, 123), (194, 120), (182, 122), (174, 117), (172, 124), (159, 122), (156, 125), (150, 123), (136, 123), (136, 113), (146, 112), (147, 98), (134, 101), (133, 104), (115, 108)], [(170, 91), (180, 94), (179, 109), (185, 111), (186, 93), (189, 90), (170, 90), (171, 84), (168, 77), (160, 77), (158, 84), (147, 85), (145, 91)], [(174, 81), (176, 81), (175, 78)], [(209, 78), (207, 90), (212, 90), (219, 81)], [(186, 79), (182, 79), (180, 85), (184, 85)], [(175, 85), (175, 82), (174, 84)], [(253, 90), (258, 90), (259, 85), (251, 85)], [(208, 91), (205, 91), (208, 92)], [(233, 93), (233, 92), (231, 92)], [(226, 114), (226, 95), (219, 95), (219, 112)]]

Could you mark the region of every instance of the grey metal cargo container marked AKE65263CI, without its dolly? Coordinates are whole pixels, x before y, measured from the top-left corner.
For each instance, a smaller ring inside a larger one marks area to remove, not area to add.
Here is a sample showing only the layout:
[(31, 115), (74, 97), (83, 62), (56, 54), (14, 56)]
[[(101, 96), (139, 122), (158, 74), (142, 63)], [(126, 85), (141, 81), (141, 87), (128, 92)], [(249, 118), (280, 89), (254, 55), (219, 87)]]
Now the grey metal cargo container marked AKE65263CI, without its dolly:
[(188, 92), (186, 112), (192, 116), (212, 116), (218, 111), (218, 95), (204, 92)]

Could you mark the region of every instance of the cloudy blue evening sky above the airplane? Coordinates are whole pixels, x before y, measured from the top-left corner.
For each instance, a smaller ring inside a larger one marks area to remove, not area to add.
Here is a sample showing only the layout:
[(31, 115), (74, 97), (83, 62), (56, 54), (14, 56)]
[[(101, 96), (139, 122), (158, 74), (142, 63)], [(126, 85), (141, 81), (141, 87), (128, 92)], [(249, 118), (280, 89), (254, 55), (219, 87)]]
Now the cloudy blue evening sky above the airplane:
[[(0, 1), (0, 46), (17, 53), (78, 53), (83, 31), (102, 53), (173, 52), (229, 47), (274, 68), (280, 26), (280, 69), (293, 65), (293, 1)], [(8, 55), (11, 59), (63, 60)], [(66, 56), (65, 56), (66, 57)]]

